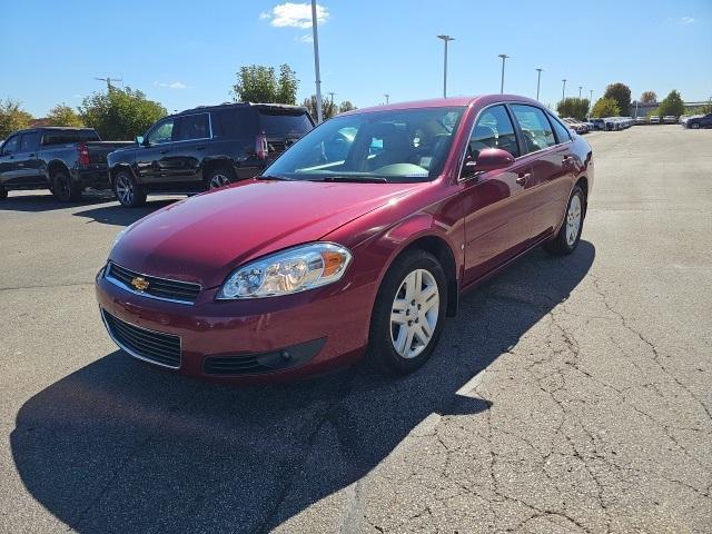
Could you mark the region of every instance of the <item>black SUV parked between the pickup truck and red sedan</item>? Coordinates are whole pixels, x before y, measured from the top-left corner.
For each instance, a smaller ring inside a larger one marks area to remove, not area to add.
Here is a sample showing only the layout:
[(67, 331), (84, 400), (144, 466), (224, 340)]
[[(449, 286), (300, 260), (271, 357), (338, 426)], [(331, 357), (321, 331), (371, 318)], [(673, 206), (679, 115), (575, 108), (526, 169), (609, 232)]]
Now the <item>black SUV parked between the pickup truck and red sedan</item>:
[(190, 195), (258, 175), (314, 128), (305, 108), (224, 103), (188, 109), (149, 128), (108, 157), (111, 187), (123, 206), (147, 194)]

